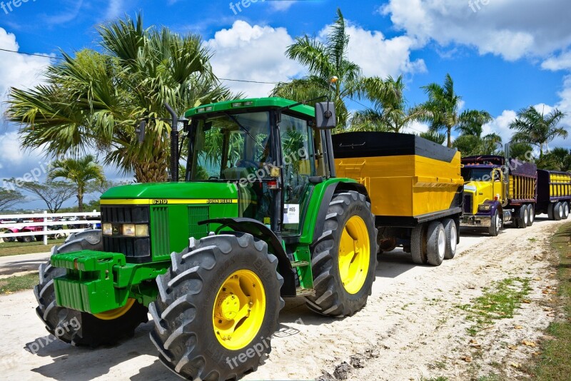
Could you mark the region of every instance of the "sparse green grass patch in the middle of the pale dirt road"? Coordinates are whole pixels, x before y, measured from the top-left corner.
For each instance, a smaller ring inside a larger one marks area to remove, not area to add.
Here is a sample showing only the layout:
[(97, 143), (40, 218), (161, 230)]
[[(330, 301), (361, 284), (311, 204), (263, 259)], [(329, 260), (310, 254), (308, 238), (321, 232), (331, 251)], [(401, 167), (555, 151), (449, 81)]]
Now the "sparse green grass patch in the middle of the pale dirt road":
[(467, 320), (475, 322), (468, 328), (471, 336), (490, 326), (497, 319), (510, 319), (530, 292), (530, 280), (527, 278), (507, 278), (484, 289), (484, 295), (471, 304), (460, 305), (468, 315)]

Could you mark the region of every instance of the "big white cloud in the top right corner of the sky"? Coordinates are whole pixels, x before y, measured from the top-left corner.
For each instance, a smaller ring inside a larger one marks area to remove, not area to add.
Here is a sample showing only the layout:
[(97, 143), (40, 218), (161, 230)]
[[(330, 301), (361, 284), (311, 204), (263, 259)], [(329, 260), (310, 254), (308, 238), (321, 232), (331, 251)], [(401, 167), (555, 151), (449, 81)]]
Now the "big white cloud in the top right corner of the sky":
[(571, 44), (568, 0), (390, 0), (380, 13), (420, 44), (474, 46), (508, 61)]

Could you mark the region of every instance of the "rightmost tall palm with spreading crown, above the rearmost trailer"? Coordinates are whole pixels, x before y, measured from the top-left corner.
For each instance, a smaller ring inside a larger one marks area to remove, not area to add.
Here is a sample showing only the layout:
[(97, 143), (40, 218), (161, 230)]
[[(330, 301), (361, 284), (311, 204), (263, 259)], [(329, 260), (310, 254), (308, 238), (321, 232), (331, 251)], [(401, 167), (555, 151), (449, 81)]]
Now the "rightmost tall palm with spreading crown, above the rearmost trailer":
[(523, 108), (517, 113), (515, 121), (510, 123), (510, 128), (517, 131), (512, 136), (512, 142), (537, 146), (542, 158), (548, 143), (557, 137), (567, 138), (567, 130), (557, 126), (562, 118), (565, 118), (565, 113), (557, 108), (547, 115), (537, 111), (534, 106)]

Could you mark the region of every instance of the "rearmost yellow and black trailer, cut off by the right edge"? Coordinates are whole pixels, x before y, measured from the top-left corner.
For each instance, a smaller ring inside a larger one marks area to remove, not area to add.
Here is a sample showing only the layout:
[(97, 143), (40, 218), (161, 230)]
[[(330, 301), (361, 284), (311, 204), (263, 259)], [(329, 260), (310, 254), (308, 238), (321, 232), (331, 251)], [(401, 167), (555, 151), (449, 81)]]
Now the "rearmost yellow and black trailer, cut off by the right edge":
[(537, 170), (535, 214), (546, 213), (550, 220), (566, 220), (571, 203), (571, 173)]

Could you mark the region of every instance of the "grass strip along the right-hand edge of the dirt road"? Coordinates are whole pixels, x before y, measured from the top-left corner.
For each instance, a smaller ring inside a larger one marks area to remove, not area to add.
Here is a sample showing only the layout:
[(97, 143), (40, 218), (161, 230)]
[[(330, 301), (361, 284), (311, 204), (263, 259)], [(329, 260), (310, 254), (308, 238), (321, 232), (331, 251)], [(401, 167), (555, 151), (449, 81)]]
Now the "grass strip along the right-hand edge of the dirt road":
[(553, 250), (559, 254), (555, 263), (559, 278), (555, 308), (565, 313), (564, 320), (547, 327), (550, 340), (542, 342), (542, 355), (535, 369), (537, 380), (562, 381), (571, 378), (571, 223), (563, 225), (552, 238)]

